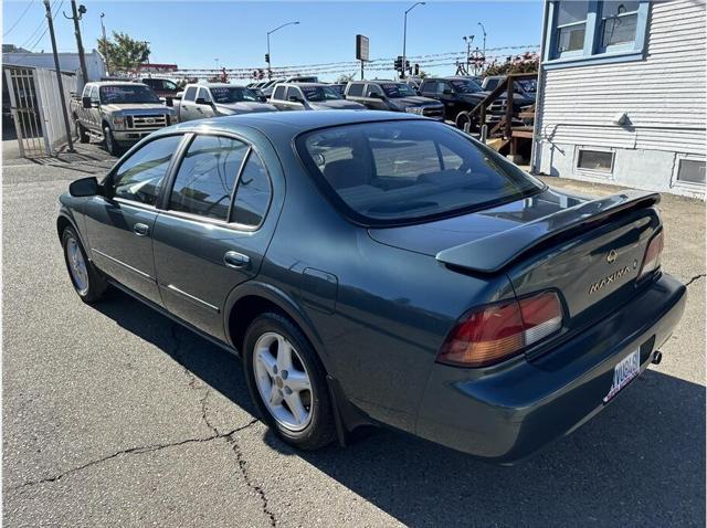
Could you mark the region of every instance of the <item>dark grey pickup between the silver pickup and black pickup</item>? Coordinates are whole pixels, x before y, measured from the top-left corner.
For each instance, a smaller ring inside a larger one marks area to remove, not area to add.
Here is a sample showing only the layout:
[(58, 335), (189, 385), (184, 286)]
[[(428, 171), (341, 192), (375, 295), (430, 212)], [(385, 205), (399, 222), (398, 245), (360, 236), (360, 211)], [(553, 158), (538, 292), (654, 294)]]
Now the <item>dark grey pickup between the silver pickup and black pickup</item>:
[(346, 98), (373, 110), (407, 112), (444, 119), (444, 106), (439, 101), (421, 97), (405, 83), (395, 81), (352, 81), (346, 87)]

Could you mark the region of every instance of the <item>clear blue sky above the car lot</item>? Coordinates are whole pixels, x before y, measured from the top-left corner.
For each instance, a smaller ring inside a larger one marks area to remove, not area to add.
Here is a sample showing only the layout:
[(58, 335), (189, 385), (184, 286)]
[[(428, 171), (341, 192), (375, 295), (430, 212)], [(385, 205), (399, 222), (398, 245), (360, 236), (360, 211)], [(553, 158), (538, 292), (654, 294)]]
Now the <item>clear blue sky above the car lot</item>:
[[(52, 0), (55, 9), (62, 0)], [(82, 1), (80, 0), (80, 3)], [(264, 66), (266, 32), (289, 21), (271, 35), (273, 66), (318, 64), (355, 60), (355, 35), (370, 39), (370, 56), (402, 54), (404, 2), (236, 2), (236, 1), (96, 1), (83, 0), (88, 9), (82, 22), (84, 46), (95, 47), (101, 35), (101, 13), (108, 34), (123, 31), (150, 42), (150, 62), (177, 63), (180, 67)], [(28, 7), (29, 6), (29, 7)], [(68, 0), (56, 17), (60, 51), (75, 51), (73, 23), (61, 11), (71, 12)], [(23, 14), (24, 13), (24, 14)], [(20, 19), (20, 17), (22, 17)], [(408, 55), (465, 50), (463, 35), (474, 34), (482, 46), (482, 22), (486, 47), (539, 44), (542, 3), (537, 1), (428, 1), (408, 15)], [(19, 20), (17, 25), (13, 24)], [(36, 31), (42, 25), (41, 30)], [(3, 42), (50, 51), (41, 0), (3, 2)], [(32, 36), (32, 34), (34, 35)], [(488, 52), (508, 55), (517, 51)], [(391, 65), (392, 70), (392, 65)], [(426, 67), (431, 73), (454, 73), (453, 65)], [(351, 68), (351, 73), (355, 68)], [(392, 72), (376, 72), (384, 76)], [(336, 77), (331, 74), (328, 77)], [(371, 75), (374, 76), (374, 75)]]

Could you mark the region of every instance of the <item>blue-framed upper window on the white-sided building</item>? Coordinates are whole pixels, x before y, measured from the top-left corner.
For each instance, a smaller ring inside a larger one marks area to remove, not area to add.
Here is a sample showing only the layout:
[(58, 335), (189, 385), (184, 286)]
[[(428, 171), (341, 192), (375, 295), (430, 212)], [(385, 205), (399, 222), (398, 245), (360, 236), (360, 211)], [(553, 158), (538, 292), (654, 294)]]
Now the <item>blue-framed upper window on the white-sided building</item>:
[(548, 3), (544, 67), (643, 59), (646, 0), (557, 0)]

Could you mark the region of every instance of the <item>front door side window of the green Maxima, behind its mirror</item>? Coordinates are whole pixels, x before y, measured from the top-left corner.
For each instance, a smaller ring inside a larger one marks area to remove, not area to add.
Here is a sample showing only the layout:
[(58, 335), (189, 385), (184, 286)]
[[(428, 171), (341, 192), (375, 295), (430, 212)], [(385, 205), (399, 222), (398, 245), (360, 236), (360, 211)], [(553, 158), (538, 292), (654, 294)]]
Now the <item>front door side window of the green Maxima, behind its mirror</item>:
[(159, 188), (181, 139), (182, 136), (155, 139), (133, 154), (118, 167), (113, 178), (113, 194), (155, 205)]

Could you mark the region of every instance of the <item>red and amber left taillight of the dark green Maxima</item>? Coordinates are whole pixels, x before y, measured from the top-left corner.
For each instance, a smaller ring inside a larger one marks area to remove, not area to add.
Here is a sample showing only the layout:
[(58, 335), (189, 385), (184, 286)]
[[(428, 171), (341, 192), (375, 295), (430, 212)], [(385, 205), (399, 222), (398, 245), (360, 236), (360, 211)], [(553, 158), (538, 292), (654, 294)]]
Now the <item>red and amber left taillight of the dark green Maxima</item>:
[(553, 292), (486, 306), (464, 316), (450, 332), (437, 361), (485, 367), (511, 356), (562, 327)]

